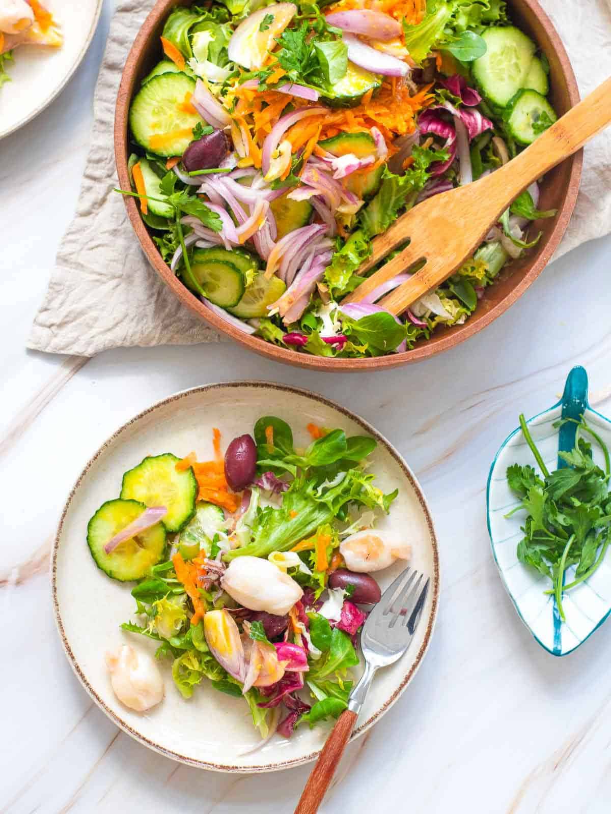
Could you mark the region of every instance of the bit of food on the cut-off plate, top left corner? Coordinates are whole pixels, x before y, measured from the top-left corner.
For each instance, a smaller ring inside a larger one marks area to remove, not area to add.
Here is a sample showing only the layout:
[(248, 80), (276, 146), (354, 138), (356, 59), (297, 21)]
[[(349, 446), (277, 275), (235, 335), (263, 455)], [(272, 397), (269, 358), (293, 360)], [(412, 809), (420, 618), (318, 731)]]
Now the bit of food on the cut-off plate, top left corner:
[(19, 46), (59, 48), (63, 37), (41, 0), (0, 0), (0, 88), (11, 81), (7, 63)]

